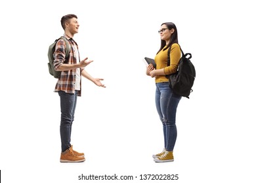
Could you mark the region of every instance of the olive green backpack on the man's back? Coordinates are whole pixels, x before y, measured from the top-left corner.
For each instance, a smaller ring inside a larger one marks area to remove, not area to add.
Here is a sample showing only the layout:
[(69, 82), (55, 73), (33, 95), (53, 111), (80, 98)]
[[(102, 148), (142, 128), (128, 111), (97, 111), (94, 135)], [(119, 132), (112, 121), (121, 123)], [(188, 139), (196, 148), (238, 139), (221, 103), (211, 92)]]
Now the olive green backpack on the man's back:
[[(68, 57), (70, 56), (70, 43), (68, 42), (68, 39), (66, 39), (66, 37), (62, 36), (60, 37), (59, 39), (63, 39), (65, 42), (66, 42), (66, 50), (65, 50), (65, 60), (68, 59)], [(56, 42), (59, 40), (59, 39), (56, 39), (53, 44), (51, 44), (49, 46), (49, 50), (48, 50), (48, 59), (49, 59), (49, 63), (48, 63), (48, 68), (49, 68), (49, 73), (54, 76), (54, 78), (60, 78), (60, 73), (61, 71), (55, 71), (54, 69), (54, 65), (53, 65), (53, 61), (54, 61), (54, 58), (53, 58), (53, 53), (55, 51), (55, 45), (56, 45)]]

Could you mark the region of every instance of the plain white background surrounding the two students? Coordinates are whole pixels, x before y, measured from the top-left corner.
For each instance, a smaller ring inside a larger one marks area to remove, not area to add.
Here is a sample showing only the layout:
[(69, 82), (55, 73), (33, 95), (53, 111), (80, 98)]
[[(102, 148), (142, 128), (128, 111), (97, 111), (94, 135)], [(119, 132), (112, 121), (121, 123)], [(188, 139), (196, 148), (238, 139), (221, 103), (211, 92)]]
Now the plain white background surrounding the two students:
[[(93, 182), (83, 175), (178, 174), (175, 182), (255, 182), (255, 8), (253, 1), (5, 1), (1, 3), (0, 169), (3, 182)], [(84, 163), (60, 163), (60, 102), (48, 46), (76, 14), (81, 59), (104, 78), (85, 78), (72, 128)], [(194, 92), (177, 111), (172, 163), (163, 148), (154, 79), (142, 59), (174, 22), (196, 67)], [(107, 182), (107, 181), (96, 181)], [(146, 181), (148, 182), (148, 181)], [(150, 182), (169, 182), (151, 180)]]

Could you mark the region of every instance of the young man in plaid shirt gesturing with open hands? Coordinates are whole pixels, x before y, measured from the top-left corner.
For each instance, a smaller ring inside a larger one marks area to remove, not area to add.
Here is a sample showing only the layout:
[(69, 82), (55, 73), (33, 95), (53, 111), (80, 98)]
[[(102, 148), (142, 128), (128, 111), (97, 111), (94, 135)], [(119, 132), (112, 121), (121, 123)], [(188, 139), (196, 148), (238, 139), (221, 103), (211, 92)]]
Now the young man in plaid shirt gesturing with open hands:
[[(64, 29), (64, 37), (68, 39), (69, 45), (63, 39), (56, 43), (54, 56), (54, 69), (62, 71), (54, 92), (58, 92), (60, 96), (60, 139), (62, 152), (60, 155), (60, 162), (81, 162), (85, 161), (84, 154), (73, 150), (70, 144), (72, 123), (74, 121), (75, 106), (77, 96), (81, 96), (81, 76), (94, 82), (97, 86), (105, 88), (100, 81), (102, 78), (93, 78), (85, 71), (85, 66), (92, 61), (87, 61), (85, 58), (80, 61), (77, 43), (73, 37), (78, 33), (79, 24), (75, 14), (67, 14), (60, 20)], [(70, 55), (65, 61), (66, 46), (70, 46)]]

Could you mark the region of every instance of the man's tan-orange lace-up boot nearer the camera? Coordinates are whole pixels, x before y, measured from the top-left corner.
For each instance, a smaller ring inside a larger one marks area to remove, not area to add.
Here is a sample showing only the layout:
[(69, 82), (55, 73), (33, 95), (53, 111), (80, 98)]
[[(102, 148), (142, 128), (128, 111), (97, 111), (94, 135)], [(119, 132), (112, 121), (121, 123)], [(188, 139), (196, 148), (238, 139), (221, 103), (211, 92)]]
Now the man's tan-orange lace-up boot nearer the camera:
[(77, 163), (83, 161), (85, 161), (85, 158), (76, 156), (71, 147), (60, 154), (61, 163)]

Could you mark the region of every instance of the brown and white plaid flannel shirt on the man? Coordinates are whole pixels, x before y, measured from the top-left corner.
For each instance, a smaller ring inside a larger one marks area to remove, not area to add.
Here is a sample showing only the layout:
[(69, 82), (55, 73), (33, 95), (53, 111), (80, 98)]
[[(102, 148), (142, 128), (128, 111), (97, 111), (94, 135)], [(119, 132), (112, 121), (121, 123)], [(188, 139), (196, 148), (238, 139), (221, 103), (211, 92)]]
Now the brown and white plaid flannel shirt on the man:
[[(65, 36), (65, 35), (64, 35)], [(66, 36), (65, 36), (66, 37)], [(57, 69), (62, 65), (62, 63), (68, 63), (68, 64), (75, 64), (77, 63), (78, 56), (74, 55), (74, 46), (77, 46), (77, 43), (72, 38), (68, 38), (68, 42), (71, 46), (70, 56), (68, 60), (65, 61), (65, 49), (66, 49), (66, 42), (62, 39), (58, 40), (56, 42), (55, 52), (53, 54), (54, 57), (54, 68)], [(78, 50), (78, 46), (77, 46)], [(80, 69), (81, 74), (82, 69)], [(55, 86), (54, 92), (58, 91), (64, 91), (66, 93), (75, 93), (75, 69), (69, 70), (69, 71), (62, 71), (60, 78), (58, 78), (58, 81)], [(78, 96), (81, 96), (81, 80), (80, 80), (80, 90), (78, 91)]]

